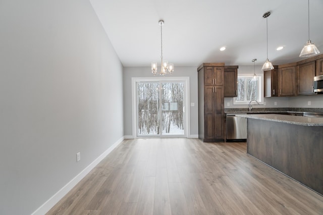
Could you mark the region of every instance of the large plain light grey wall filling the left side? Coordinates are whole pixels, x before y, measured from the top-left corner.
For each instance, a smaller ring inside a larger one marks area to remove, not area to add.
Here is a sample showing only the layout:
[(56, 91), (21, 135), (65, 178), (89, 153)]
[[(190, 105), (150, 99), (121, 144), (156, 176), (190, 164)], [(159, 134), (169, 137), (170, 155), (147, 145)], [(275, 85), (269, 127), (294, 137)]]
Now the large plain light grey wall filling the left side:
[(123, 68), (88, 0), (2, 0), (0, 26), (0, 214), (30, 214), (123, 137)]

